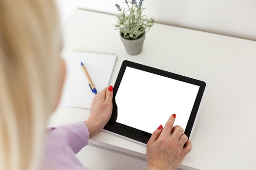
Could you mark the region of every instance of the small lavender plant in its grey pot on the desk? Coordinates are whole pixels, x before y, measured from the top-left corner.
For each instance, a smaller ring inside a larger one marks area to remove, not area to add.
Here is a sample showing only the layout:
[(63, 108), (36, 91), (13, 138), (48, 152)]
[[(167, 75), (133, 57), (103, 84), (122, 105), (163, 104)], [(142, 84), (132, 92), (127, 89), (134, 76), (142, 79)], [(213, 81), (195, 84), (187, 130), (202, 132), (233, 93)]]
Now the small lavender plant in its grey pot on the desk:
[[(154, 19), (147, 19), (142, 12), (142, 2), (144, 0), (125, 0), (128, 10), (121, 8), (118, 4), (116, 7), (121, 14), (117, 16), (118, 23), (115, 28), (120, 31), (121, 41), (125, 50), (130, 55), (137, 55), (142, 51), (143, 42), (146, 33), (154, 25)], [(130, 4), (129, 4), (130, 2)]]

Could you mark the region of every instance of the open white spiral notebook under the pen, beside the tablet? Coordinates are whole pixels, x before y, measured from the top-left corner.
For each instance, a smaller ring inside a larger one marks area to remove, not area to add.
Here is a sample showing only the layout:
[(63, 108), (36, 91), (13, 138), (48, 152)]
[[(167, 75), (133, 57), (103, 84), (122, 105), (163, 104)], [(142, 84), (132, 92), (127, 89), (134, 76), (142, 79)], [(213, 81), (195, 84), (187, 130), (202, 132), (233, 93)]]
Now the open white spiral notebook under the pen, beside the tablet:
[(89, 109), (95, 94), (88, 85), (80, 62), (84, 64), (99, 92), (110, 83), (117, 55), (108, 52), (73, 50), (63, 59), (67, 66), (67, 76), (59, 105)]

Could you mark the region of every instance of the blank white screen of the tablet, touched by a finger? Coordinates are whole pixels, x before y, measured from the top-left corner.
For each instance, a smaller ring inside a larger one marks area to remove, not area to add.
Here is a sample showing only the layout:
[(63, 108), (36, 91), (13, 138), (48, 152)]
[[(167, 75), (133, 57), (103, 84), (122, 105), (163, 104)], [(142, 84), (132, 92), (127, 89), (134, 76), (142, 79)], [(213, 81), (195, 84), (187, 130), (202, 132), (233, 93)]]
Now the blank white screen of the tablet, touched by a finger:
[(176, 114), (175, 125), (186, 129), (198, 85), (126, 67), (116, 94), (118, 123), (153, 133)]

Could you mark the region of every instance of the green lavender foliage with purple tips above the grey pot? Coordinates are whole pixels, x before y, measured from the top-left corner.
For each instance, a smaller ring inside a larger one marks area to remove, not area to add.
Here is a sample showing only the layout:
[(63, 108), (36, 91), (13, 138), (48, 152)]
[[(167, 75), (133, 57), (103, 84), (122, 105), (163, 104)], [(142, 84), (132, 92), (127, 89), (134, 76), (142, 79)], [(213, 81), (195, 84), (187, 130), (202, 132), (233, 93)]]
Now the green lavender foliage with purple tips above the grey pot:
[[(117, 16), (118, 23), (115, 28), (118, 29), (125, 39), (134, 40), (140, 38), (143, 34), (147, 33), (154, 25), (154, 19), (147, 19), (142, 12), (146, 8), (142, 8), (144, 0), (125, 0), (128, 10), (121, 8), (118, 4), (116, 7), (121, 14)], [(130, 2), (130, 4), (129, 4)]]

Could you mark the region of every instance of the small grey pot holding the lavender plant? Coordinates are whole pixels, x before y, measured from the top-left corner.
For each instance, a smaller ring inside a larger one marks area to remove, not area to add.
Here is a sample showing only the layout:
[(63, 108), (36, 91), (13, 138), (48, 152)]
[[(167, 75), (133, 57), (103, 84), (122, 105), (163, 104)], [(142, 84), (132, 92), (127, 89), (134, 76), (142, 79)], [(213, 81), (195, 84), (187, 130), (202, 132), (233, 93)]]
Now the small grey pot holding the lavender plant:
[(138, 55), (143, 48), (143, 42), (146, 37), (145, 34), (143, 34), (140, 38), (135, 40), (129, 40), (122, 37), (120, 34), (121, 41), (123, 42), (124, 48), (126, 52), (130, 55)]

